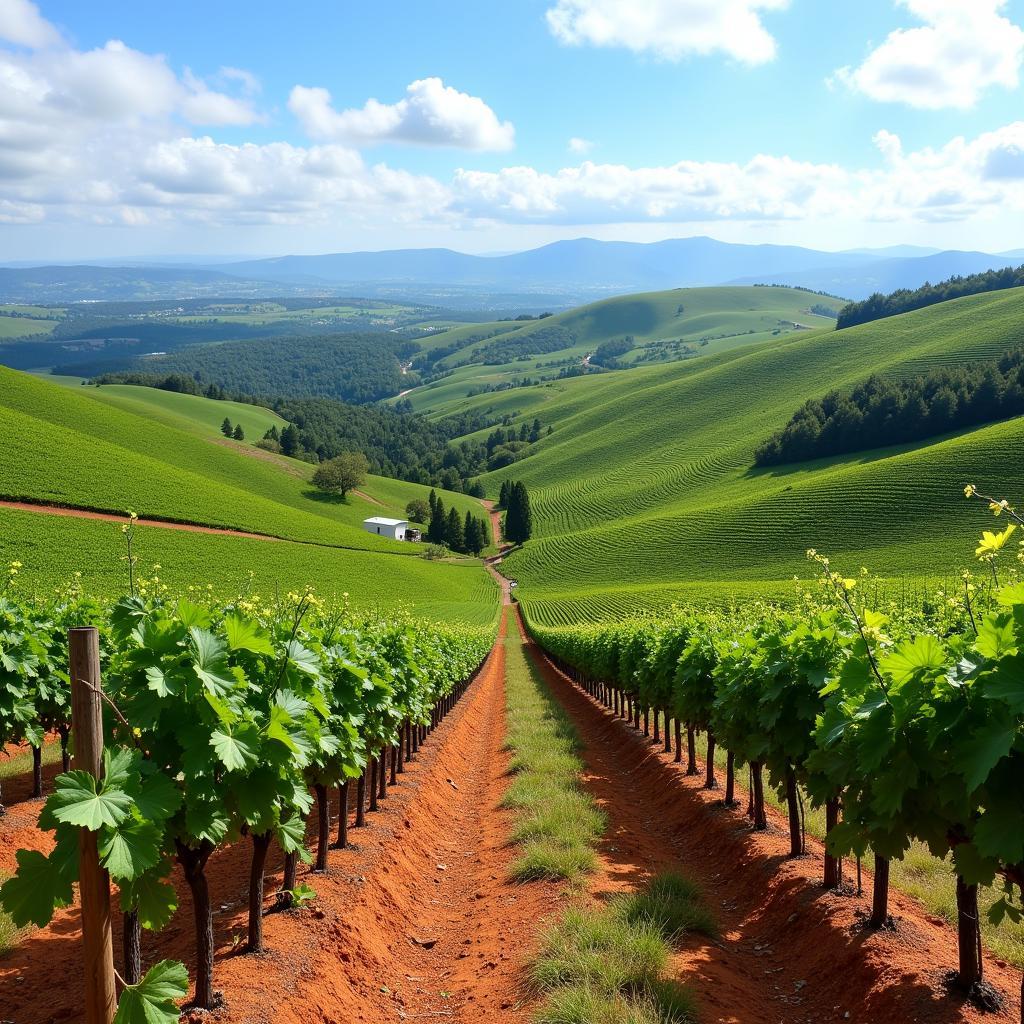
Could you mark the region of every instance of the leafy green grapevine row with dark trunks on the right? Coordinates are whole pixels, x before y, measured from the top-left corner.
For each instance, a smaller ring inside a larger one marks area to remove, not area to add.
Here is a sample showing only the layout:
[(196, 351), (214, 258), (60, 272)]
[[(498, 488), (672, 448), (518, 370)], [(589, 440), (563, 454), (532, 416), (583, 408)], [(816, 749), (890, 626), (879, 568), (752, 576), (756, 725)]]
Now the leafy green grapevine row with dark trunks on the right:
[[(999, 543), (986, 535), (979, 551), (995, 557)], [(816, 559), (830, 597), (795, 612), (765, 604), (728, 613), (682, 609), (660, 621), (532, 623), (531, 632), (614, 714), (637, 728), (642, 722), (644, 735), (652, 724), (655, 743), (664, 724), (666, 750), (674, 745), (677, 761), (682, 726), (688, 774), (697, 773), (694, 735), (707, 733), (706, 788), (723, 786), (727, 807), (745, 766), (755, 830), (767, 827), (770, 784), (787, 813), (792, 857), (805, 852), (806, 792), (825, 810), (826, 889), (842, 886), (839, 858), (873, 854), (868, 928), (891, 927), (890, 861), (914, 843), (951, 857), (959, 943), (958, 964), (948, 965), (953, 984), (995, 1009), (1008, 993), (984, 978), (979, 886), (993, 887), (982, 903), (992, 925), (1010, 932), (1001, 944), (1019, 947), (1021, 588), (986, 598), (972, 585), (968, 603), (940, 606), (936, 617), (908, 609), (885, 615), (859, 602), (856, 581)], [(728, 752), (724, 778), (716, 777), (717, 746)]]

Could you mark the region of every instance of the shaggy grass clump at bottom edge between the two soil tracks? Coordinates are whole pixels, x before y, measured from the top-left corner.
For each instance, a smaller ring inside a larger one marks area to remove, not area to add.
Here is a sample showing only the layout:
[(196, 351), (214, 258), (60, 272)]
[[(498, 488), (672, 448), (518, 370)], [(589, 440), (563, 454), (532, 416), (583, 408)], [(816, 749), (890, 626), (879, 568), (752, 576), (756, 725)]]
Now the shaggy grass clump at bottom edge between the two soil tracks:
[(545, 998), (536, 1024), (690, 1024), (689, 989), (666, 977), (673, 946), (715, 935), (696, 886), (662, 874), (595, 912), (574, 907), (543, 936), (530, 982)]

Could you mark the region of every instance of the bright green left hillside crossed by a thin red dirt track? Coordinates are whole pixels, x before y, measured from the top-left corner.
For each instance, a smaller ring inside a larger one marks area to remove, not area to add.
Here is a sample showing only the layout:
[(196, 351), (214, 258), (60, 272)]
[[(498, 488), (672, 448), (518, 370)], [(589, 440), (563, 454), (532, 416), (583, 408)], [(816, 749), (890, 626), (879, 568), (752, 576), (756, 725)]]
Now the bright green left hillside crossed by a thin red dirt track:
[[(430, 564), (418, 557), (422, 549), (361, 529), (371, 515), (403, 516), (406, 503), (428, 487), (370, 477), (360, 495), (325, 501), (309, 483), (312, 466), (219, 436), (224, 403), (112, 390), (61, 387), (0, 368), (0, 498), (131, 508), (290, 542), (142, 529), (141, 557), (162, 564), (168, 582), (232, 591), (251, 570), (261, 589), (310, 583), (348, 591), (360, 605), (450, 607), (463, 617), (479, 605), (474, 615), (493, 614), (496, 591), (478, 563)], [(474, 499), (442, 496), (450, 507), (482, 514)], [(0, 559), (24, 562), (30, 583), (53, 584), (81, 569), (104, 592), (123, 585), (120, 531), (110, 523), (0, 510)]]

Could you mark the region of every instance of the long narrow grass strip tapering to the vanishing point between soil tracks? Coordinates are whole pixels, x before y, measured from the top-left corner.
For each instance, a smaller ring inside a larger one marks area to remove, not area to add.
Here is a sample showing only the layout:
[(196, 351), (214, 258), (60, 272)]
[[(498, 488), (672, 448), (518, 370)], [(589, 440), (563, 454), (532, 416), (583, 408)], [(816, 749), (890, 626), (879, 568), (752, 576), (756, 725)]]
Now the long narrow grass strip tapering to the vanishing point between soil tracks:
[(578, 881), (594, 870), (606, 823), (581, 783), (580, 737), (527, 658), (518, 631), (505, 640), (505, 745), (515, 777), (503, 806), (515, 811), (512, 841), (521, 847), (512, 878)]

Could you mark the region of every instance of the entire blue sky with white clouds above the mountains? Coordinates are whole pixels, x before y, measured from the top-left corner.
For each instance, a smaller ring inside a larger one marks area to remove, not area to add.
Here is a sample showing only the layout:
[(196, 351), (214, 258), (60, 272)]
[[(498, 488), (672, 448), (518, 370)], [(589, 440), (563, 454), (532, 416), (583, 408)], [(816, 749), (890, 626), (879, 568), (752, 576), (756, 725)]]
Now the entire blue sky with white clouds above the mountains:
[(1024, 0), (4, 0), (0, 259), (1017, 248), (1022, 26)]

